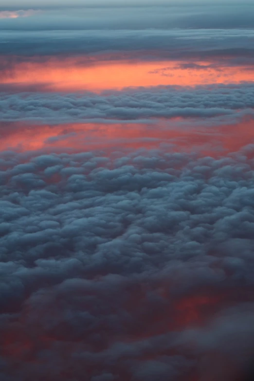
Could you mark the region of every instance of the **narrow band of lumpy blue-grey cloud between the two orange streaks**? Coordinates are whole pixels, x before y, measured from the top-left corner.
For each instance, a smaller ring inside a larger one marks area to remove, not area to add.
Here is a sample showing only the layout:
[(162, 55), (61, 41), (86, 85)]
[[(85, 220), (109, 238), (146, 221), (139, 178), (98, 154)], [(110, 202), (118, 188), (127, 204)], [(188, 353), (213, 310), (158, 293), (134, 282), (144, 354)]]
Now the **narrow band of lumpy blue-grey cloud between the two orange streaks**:
[(254, 85), (162, 87), (116, 91), (107, 95), (57, 93), (0, 93), (0, 120), (45, 123), (82, 122), (85, 119), (231, 116), (253, 114)]

